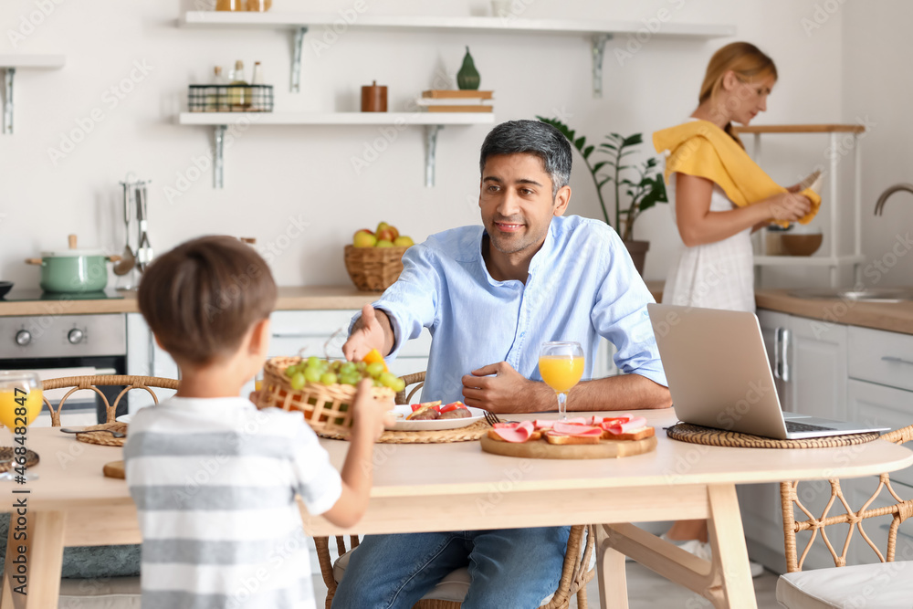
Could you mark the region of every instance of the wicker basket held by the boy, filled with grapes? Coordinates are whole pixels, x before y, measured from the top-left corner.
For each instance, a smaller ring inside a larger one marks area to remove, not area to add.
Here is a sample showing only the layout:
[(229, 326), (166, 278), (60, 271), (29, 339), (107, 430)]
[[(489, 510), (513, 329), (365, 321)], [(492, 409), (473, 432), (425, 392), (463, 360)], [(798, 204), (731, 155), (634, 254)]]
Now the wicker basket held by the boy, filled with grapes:
[[(304, 420), (318, 434), (348, 436), (352, 429), (352, 411), (349, 404), (355, 398), (355, 387), (346, 384), (325, 385), (305, 383), (299, 390), (291, 388), (285, 370), (301, 362), (299, 357), (274, 357), (263, 367), (263, 389), (259, 393), (257, 408), (276, 407), (282, 410), (299, 410)], [(394, 391), (387, 387), (373, 387), (375, 400), (394, 405)]]

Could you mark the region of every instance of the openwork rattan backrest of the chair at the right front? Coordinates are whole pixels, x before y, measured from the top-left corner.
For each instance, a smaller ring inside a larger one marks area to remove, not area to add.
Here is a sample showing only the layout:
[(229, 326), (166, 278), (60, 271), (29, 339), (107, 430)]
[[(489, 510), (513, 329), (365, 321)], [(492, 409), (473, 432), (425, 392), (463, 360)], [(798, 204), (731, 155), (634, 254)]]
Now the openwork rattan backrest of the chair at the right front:
[[(893, 442), (895, 444), (904, 444), (906, 442), (913, 441), (913, 425), (909, 425), (902, 429), (897, 429), (897, 431), (887, 433), (884, 436), (881, 436), (881, 439), (887, 440), (888, 442)], [(827, 505), (824, 508), (824, 513), (820, 518), (815, 518), (812, 512), (809, 511), (809, 509), (803, 505), (802, 501), (799, 500), (798, 480), (780, 483), (780, 499), (782, 501), (783, 510), (783, 541), (786, 546), (787, 570), (789, 572), (802, 571), (802, 565), (805, 561), (805, 557), (811, 550), (812, 543), (817, 537), (819, 530), (821, 531), (821, 538), (824, 541), (824, 544), (827, 546), (828, 551), (831, 552), (831, 557), (834, 559), (834, 565), (837, 567), (845, 566), (846, 552), (849, 550), (850, 541), (853, 538), (854, 527), (859, 530), (859, 535), (864, 540), (866, 540), (866, 543), (868, 543), (869, 547), (875, 551), (881, 562), (893, 561), (894, 551), (897, 547), (897, 529), (904, 520), (913, 517), (913, 498), (901, 499), (897, 495), (897, 492), (895, 492), (894, 488), (891, 486), (890, 477), (887, 474), (881, 474), (879, 477), (878, 487), (875, 489), (875, 492), (872, 493), (871, 497), (866, 499), (866, 502), (860, 509), (854, 511), (850, 508), (849, 503), (844, 497), (843, 490), (840, 488), (840, 480), (828, 480), (828, 482), (831, 485), (831, 497), (828, 500)], [(887, 488), (887, 492), (890, 494), (891, 499), (893, 499), (895, 503), (884, 508), (868, 509), (868, 506), (870, 506), (872, 502), (876, 500), (884, 488)], [(845, 513), (836, 516), (828, 516), (828, 512), (831, 510), (837, 500), (840, 501), (840, 504), (845, 509)], [(803, 514), (808, 517), (808, 519), (795, 520), (796, 512), (793, 506), (800, 509)], [(888, 529), (887, 557), (886, 554), (882, 554), (881, 551), (876, 548), (875, 543), (872, 542), (869, 536), (866, 535), (866, 531), (862, 528), (863, 520), (883, 516), (893, 517), (891, 526)], [(831, 541), (827, 539), (827, 533), (824, 532), (824, 527), (834, 524), (849, 525), (849, 530), (846, 533), (846, 540), (844, 542), (843, 551), (840, 554), (837, 554), (837, 552), (834, 551), (834, 546), (831, 545)], [(802, 555), (797, 557), (796, 533), (802, 530), (811, 530), (812, 537), (805, 545)]]

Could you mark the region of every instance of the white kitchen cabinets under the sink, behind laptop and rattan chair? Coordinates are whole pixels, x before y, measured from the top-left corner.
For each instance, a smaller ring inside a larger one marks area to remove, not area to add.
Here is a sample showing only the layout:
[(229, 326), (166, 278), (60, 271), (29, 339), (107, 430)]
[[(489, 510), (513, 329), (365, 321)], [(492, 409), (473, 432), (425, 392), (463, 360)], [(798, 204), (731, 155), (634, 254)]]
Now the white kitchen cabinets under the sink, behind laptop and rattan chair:
[[(892, 429), (913, 424), (913, 336), (770, 310), (759, 310), (758, 319), (784, 410)], [(897, 481), (895, 489), (903, 499), (913, 497), (913, 468), (896, 472), (891, 479)], [(860, 509), (877, 483), (876, 477), (842, 480), (851, 509)], [(830, 492), (826, 480), (799, 485), (799, 499), (815, 516), (821, 515)], [(785, 561), (779, 485), (743, 486), (739, 488), (739, 497), (752, 559), (774, 571), (782, 571)], [(887, 505), (888, 499), (884, 492), (870, 507)], [(829, 514), (843, 512), (837, 501)], [(887, 523), (889, 519), (880, 519), (864, 525), (882, 552), (886, 548)], [(913, 560), (913, 530), (907, 524), (898, 534), (898, 558), (907, 552), (905, 560)], [(846, 526), (827, 529), (837, 551), (842, 550), (847, 530)], [(807, 537), (807, 533), (797, 537), (800, 553)], [(876, 560), (858, 531), (854, 533), (847, 560), (851, 564)], [(833, 564), (824, 544), (815, 541), (805, 568)]]

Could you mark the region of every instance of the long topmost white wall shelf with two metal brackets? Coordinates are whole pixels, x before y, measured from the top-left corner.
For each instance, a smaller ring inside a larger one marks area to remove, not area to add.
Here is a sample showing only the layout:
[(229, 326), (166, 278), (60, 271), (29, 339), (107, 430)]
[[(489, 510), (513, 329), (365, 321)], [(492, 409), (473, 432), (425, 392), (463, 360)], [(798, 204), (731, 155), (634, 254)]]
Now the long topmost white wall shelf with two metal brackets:
[(355, 14), (345, 18), (337, 13), (230, 13), (220, 11), (188, 11), (181, 16), (183, 27), (235, 27), (290, 29), (294, 32), (291, 90), (300, 90), (301, 49), (310, 27), (330, 26), (357, 30), (393, 31), (461, 31), (467, 33), (542, 33), (551, 35), (588, 36), (593, 52), (593, 97), (603, 96), (603, 56), (605, 43), (615, 36), (638, 34), (652, 37), (686, 37), (709, 39), (730, 37), (735, 26), (664, 22), (656, 32), (639, 21), (597, 21), (589, 19), (521, 19), (512, 16), (380, 16)]

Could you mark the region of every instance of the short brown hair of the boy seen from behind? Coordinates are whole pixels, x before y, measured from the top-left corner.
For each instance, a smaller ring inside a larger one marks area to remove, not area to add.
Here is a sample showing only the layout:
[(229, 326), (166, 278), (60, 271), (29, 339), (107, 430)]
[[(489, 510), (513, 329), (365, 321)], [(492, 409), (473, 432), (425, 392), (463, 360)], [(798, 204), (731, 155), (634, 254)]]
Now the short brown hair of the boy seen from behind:
[(203, 236), (158, 257), (137, 295), (150, 329), (178, 363), (231, 356), (247, 331), (276, 307), (276, 282), (253, 247)]

